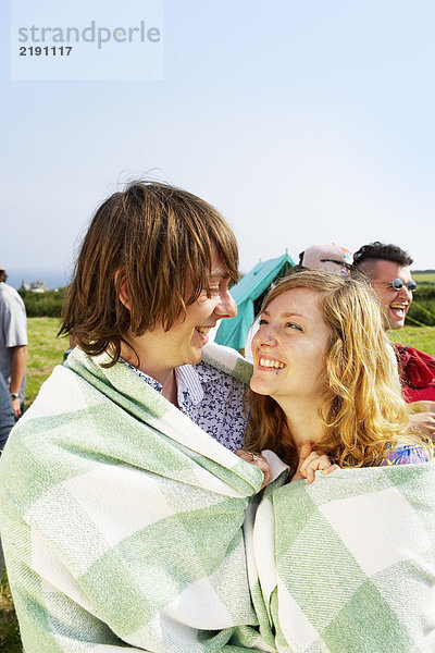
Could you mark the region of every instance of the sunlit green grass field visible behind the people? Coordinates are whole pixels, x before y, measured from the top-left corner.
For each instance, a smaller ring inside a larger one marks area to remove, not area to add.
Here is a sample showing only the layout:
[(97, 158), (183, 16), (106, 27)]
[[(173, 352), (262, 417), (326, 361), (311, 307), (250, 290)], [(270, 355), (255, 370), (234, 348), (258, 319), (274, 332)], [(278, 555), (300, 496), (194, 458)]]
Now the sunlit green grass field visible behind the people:
[[(28, 319), (27, 407), (35, 399), (40, 385), (50, 375), (53, 367), (63, 360), (67, 341), (55, 337), (58, 330), (59, 320), (57, 318)], [(390, 332), (390, 337), (435, 356), (435, 326), (421, 329), (406, 326), (399, 332)], [(18, 626), (5, 571), (3, 571), (0, 586), (0, 652), (22, 653)]]

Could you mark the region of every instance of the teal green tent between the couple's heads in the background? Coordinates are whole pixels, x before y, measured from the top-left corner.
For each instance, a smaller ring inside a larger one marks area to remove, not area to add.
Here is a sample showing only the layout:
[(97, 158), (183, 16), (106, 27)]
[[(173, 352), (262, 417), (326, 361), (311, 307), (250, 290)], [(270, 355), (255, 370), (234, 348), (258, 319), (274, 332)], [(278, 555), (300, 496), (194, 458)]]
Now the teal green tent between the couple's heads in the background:
[(215, 342), (233, 349), (243, 349), (249, 328), (260, 310), (269, 286), (275, 279), (284, 276), (293, 266), (295, 262), (286, 252), (278, 258), (260, 261), (253, 270), (240, 279), (231, 291), (237, 304), (237, 316), (231, 320), (222, 320)]

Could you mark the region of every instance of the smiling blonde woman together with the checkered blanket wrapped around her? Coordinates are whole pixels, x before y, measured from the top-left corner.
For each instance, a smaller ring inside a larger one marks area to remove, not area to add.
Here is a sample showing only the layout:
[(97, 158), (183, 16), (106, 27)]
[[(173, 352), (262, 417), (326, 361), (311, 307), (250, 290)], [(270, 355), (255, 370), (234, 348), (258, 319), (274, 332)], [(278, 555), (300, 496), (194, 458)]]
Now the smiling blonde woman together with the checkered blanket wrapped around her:
[(264, 300), (252, 354), (246, 444), (290, 468), (244, 526), (268, 641), (279, 653), (435, 651), (432, 445), (407, 432), (373, 291), (288, 275)]

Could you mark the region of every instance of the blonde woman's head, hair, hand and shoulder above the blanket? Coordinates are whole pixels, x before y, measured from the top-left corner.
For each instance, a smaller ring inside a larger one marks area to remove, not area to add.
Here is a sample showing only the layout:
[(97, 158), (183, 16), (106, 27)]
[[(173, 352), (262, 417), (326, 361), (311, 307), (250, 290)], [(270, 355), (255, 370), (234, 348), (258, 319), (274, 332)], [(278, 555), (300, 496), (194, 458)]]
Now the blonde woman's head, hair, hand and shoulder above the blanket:
[[(296, 478), (328, 466), (421, 463), (431, 444), (408, 412), (372, 288), (318, 270), (293, 273), (265, 298), (252, 342), (247, 446), (276, 452)], [(306, 448), (302, 449), (302, 446)], [(307, 445), (313, 452), (304, 459)]]

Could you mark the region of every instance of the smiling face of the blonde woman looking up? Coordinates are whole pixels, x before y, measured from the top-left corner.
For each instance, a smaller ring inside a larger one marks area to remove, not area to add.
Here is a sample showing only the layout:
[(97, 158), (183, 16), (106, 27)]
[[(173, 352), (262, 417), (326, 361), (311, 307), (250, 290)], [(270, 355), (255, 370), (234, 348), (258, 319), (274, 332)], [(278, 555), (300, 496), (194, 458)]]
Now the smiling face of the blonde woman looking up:
[(275, 297), (252, 341), (251, 389), (279, 405), (294, 397), (318, 399), (325, 384), (330, 333), (316, 292), (297, 287)]

